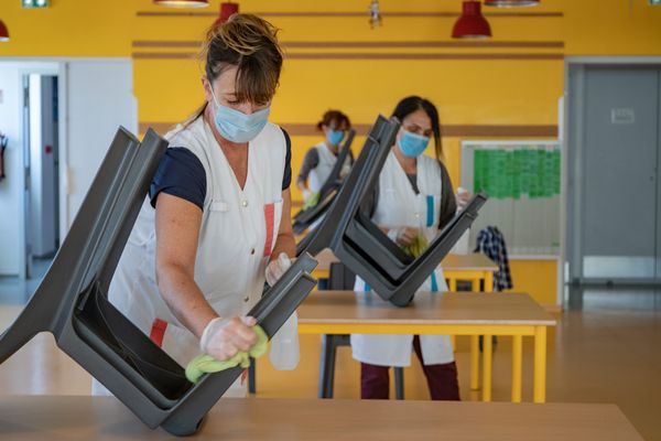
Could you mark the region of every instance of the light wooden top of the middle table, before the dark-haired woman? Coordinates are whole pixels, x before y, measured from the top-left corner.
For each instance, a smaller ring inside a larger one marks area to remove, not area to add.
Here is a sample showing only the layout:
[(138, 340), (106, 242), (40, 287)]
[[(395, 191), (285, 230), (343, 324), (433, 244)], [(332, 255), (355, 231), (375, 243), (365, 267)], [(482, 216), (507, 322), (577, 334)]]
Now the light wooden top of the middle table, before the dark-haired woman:
[(299, 306), (299, 323), (333, 324), (556, 324), (528, 294), (419, 292), (407, 308), (373, 292), (315, 291)]

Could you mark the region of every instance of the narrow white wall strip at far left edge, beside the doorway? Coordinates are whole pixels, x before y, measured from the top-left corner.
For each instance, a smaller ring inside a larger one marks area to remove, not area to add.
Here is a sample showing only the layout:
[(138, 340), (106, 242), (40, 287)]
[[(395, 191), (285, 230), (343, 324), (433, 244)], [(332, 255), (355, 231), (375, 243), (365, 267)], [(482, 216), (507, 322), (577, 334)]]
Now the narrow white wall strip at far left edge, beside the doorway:
[(18, 275), (19, 250), (22, 244), (21, 216), (23, 184), (23, 140), (21, 130), (19, 66), (0, 63), (0, 131), (9, 137), (4, 151), (7, 179), (0, 181), (0, 275)]

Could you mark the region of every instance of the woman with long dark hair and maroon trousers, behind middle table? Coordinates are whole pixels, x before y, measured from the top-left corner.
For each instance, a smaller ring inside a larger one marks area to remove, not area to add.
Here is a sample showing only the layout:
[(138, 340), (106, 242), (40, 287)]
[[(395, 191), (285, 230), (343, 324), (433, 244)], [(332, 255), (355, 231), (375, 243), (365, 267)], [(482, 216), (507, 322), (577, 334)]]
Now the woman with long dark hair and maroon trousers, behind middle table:
[[(392, 112), (401, 122), (395, 143), (379, 175), (371, 218), (391, 240), (411, 254), (421, 252), (452, 219), (456, 202), (443, 165), (441, 123), (436, 107), (411, 96)], [(426, 157), (434, 139), (436, 159)], [(360, 278), (356, 291), (370, 288)], [(441, 267), (419, 291), (447, 291)], [(387, 399), (389, 367), (411, 364), (411, 348), (420, 358), (434, 400), (458, 400), (459, 387), (454, 353), (447, 335), (351, 335), (354, 358), (360, 362), (361, 398)]]

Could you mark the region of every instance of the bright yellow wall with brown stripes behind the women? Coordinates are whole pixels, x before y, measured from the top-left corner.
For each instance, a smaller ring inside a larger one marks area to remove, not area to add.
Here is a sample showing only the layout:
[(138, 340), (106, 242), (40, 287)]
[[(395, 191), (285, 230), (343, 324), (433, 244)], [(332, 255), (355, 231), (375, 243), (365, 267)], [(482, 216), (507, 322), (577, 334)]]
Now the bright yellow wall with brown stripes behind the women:
[[(202, 10), (208, 15), (150, 17), (143, 12), (176, 10), (149, 0), (52, 0), (47, 10), (22, 10), (19, 0), (1, 0), (0, 19), (12, 41), (0, 44), (0, 56), (134, 56), (134, 90), (139, 120), (145, 127), (185, 118), (202, 99), (202, 65), (194, 58), (172, 58), (196, 50), (164, 46), (163, 42), (199, 41), (219, 1)], [(291, 42), (451, 42), (455, 17), (427, 12), (457, 12), (460, 2), (380, 0), (383, 26), (370, 30), (365, 17), (291, 17), (282, 12), (366, 12), (368, 0), (246, 0), (245, 12), (263, 12)], [(419, 12), (393, 17), (392, 12)], [(201, 12), (201, 10), (194, 10)], [(323, 111), (339, 108), (355, 123), (369, 125), (378, 112), (389, 114), (403, 96), (418, 94), (440, 108), (442, 122), (455, 127), (444, 139), (447, 165), (458, 184), (459, 143), (463, 139), (548, 138), (557, 123), (557, 99), (563, 90), (563, 56), (661, 55), (661, 7), (647, 0), (543, 0), (540, 7), (489, 12), (494, 39), (484, 47), (288, 47), (281, 87), (272, 120), (283, 125), (313, 125)], [(512, 15), (512, 12), (514, 13)], [(530, 14), (533, 15), (521, 15)], [(545, 14), (545, 15), (544, 15)], [(142, 43), (140, 43), (142, 42)], [(139, 44), (152, 46), (139, 46)], [(156, 43), (155, 46), (154, 42)], [(514, 42), (512, 47), (499, 43)], [(521, 42), (537, 42), (524, 46)], [(541, 47), (539, 43), (551, 43)], [(518, 45), (518, 46), (517, 46)], [(328, 53), (441, 54), (476, 60), (334, 60)], [(141, 54), (152, 54), (150, 58)], [(317, 54), (303, 60), (296, 54)], [(153, 54), (156, 54), (155, 57)], [(325, 54), (325, 55), (324, 55)], [(494, 56), (513, 54), (519, 60)], [(546, 57), (534, 60), (534, 57)], [(488, 127), (510, 127), (498, 136)], [(487, 127), (476, 137), (477, 127)], [(525, 131), (525, 128), (533, 129)], [(537, 129), (534, 129), (537, 127)], [(541, 129), (540, 129), (541, 127)], [(551, 130), (551, 131), (550, 131)], [(293, 166), (321, 138), (292, 133)], [(358, 138), (356, 146), (362, 142)], [(296, 191), (293, 194), (300, 200)], [(555, 265), (513, 262), (517, 290), (528, 290), (543, 303), (555, 303)], [(534, 271), (534, 272), (531, 272)], [(530, 275), (534, 273), (531, 278)], [(543, 278), (549, 286), (540, 287)]]

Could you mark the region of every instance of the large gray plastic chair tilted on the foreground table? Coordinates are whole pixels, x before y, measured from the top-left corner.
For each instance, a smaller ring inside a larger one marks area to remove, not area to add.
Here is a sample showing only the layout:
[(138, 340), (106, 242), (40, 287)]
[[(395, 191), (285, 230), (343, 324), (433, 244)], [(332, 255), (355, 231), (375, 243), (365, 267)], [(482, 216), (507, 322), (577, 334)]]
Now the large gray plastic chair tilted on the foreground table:
[[(191, 384), (184, 368), (107, 299), (108, 287), (167, 142), (142, 143), (119, 129), (53, 265), (0, 336), (0, 364), (40, 332), (98, 379), (140, 420), (176, 435), (194, 433), (241, 374), (240, 367)], [(315, 286), (316, 261), (301, 256), (250, 311), (272, 336)]]

